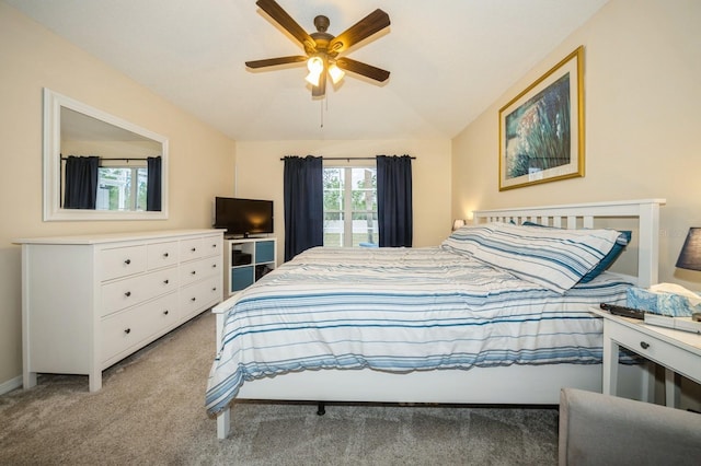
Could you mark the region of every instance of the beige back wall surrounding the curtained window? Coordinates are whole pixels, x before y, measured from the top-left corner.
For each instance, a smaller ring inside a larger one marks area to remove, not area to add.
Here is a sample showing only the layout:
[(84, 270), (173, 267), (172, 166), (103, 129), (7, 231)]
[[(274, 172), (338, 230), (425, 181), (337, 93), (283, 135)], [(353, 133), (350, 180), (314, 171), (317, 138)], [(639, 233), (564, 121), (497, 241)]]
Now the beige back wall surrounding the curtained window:
[[(278, 261), (284, 257), (283, 162), (285, 155), (366, 158), (378, 154), (416, 156), (412, 162), (414, 246), (437, 245), (450, 233), (450, 141), (239, 141), (237, 142), (237, 196), (275, 201), (275, 236)], [(325, 164), (348, 166), (346, 161)], [(352, 161), (359, 165), (368, 161)], [(371, 161), (369, 163), (372, 163)]]

